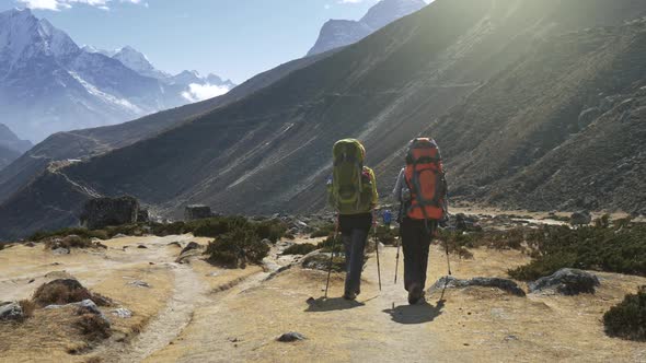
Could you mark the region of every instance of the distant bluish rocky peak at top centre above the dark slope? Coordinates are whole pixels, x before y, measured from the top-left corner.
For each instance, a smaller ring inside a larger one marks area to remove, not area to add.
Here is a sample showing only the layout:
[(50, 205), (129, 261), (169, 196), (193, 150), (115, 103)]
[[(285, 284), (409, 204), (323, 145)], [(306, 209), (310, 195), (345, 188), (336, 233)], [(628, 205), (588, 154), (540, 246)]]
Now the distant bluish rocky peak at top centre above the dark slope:
[(426, 7), (424, 0), (381, 0), (359, 21), (330, 20), (308, 56), (355, 44), (397, 19)]

